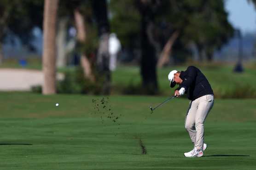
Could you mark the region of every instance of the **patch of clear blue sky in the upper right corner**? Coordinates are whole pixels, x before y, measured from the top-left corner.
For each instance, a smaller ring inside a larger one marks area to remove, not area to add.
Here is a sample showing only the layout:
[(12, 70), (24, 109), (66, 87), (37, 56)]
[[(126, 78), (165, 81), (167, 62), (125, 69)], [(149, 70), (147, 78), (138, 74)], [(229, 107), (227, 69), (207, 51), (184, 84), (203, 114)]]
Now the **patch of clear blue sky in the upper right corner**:
[(229, 13), (228, 20), (243, 33), (256, 33), (256, 10), (247, 0), (226, 0), (225, 7)]

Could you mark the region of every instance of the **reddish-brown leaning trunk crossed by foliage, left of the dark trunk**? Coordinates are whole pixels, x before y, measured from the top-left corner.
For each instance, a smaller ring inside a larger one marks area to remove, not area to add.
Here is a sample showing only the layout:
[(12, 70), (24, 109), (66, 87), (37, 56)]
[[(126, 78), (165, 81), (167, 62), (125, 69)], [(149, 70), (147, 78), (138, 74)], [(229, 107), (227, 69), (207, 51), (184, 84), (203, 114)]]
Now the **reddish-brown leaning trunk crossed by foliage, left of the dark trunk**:
[[(76, 22), (77, 39), (80, 43), (84, 43), (86, 41), (86, 28), (84, 23), (84, 17), (78, 9), (74, 11), (74, 16)], [(91, 63), (85, 53), (81, 54), (80, 62), (83, 68), (85, 78), (91, 80), (92, 82), (95, 82), (95, 76), (93, 75)]]

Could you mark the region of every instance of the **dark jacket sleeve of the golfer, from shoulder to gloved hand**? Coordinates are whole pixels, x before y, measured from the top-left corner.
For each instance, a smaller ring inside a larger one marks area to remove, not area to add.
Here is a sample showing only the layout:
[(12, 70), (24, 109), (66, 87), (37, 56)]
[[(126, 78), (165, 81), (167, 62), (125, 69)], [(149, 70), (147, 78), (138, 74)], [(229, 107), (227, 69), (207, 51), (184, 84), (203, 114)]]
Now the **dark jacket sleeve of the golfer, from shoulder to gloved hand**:
[(182, 83), (176, 90), (180, 90), (182, 87), (185, 88), (185, 91), (187, 91), (188, 87), (192, 85), (192, 82), (196, 79), (196, 69), (193, 66), (189, 66), (186, 69), (187, 76), (183, 79)]

